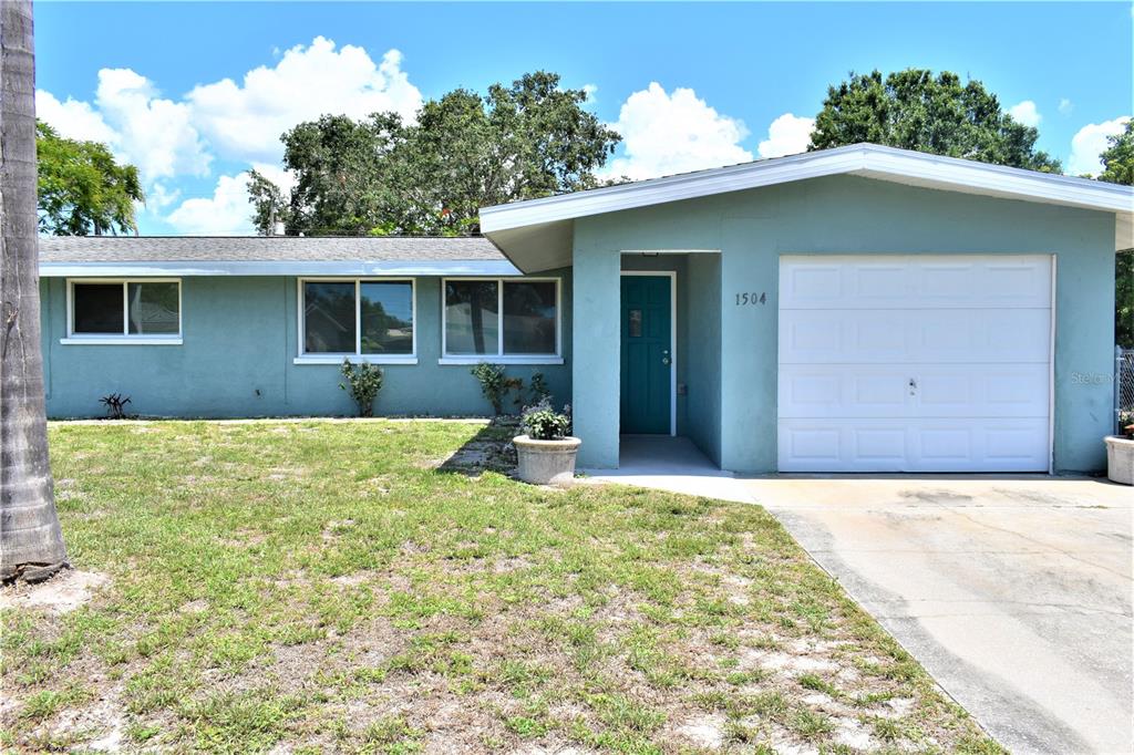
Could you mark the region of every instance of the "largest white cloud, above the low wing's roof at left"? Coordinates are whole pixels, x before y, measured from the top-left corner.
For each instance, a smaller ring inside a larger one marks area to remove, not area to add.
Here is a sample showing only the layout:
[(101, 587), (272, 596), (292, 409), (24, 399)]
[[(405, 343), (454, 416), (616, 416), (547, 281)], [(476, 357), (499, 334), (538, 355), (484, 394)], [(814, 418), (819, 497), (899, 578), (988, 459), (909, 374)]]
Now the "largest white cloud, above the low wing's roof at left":
[[(294, 177), (279, 167), (280, 135), (324, 113), (363, 118), (392, 110), (412, 120), (422, 95), (401, 70), (401, 53), (375, 62), (359, 46), (336, 49), (322, 36), (276, 51), (272, 67), (194, 87), (178, 100), (128, 68), (103, 68), (93, 102), (36, 92), (40, 118), (70, 138), (105, 143), (137, 166), (151, 210), (180, 200), (179, 177), (208, 176), (214, 155), (245, 163), (287, 192)], [(167, 220), (193, 234), (249, 232), (247, 173), (219, 176), (212, 197), (181, 202)]]

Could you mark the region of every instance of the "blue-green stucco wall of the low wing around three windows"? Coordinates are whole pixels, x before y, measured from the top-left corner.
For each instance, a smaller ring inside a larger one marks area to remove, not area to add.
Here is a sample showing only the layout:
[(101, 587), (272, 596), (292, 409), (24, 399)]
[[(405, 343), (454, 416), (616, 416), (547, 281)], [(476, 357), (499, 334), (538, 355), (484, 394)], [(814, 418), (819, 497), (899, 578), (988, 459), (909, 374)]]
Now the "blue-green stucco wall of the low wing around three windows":
[[(557, 404), (570, 399), (572, 285), (562, 278), (564, 365), (506, 367), (524, 379), (542, 372)], [(542, 275), (541, 275), (542, 277)], [(383, 365), (379, 415), (491, 414), (466, 365), (440, 365), (441, 279), (416, 279), (417, 364)], [(144, 416), (244, 417), (352, 415), (337, 365), (296, 365), (297, 286), (285, 277), (181, 279), (180, 346), (62, 345), (66, 281), (41, 281), (44, 384), (51, 417), (102, 416), (99, 398), (130, 397)], [(259, 392), (257, 392), (259, 391)]]

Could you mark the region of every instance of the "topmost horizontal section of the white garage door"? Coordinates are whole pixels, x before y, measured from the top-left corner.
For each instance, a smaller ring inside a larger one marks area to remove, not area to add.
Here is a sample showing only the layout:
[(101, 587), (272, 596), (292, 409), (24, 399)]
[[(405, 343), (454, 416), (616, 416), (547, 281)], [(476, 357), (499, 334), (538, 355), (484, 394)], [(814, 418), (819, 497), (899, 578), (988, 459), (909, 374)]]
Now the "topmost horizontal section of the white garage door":
[(1047, 307), (1050, 275), (1050, 258), (1044, 255), (785, 256), (780, 305), (786, 309)]

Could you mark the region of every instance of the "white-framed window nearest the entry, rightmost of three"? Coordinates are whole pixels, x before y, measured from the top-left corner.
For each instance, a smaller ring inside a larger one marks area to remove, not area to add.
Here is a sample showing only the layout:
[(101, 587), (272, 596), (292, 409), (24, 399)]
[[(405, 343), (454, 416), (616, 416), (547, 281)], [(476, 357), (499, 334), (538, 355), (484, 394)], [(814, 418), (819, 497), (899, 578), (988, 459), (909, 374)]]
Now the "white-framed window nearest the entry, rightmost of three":
[(558, 279), (445, 280), (445, 357), (559, 357)]

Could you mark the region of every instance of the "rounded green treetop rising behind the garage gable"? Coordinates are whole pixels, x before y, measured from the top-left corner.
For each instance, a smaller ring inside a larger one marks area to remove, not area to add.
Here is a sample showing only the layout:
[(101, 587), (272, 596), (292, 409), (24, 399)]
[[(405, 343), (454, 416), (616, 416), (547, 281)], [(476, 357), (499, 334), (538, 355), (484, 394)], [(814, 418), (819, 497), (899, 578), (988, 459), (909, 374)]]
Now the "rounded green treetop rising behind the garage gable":
[(850, 74), (827, 90), (809, 150), (872, 142), (1000, 166), (1059, 172), (1059, 161), (1035, 149), (1039, 132), (1004, 112), (978, 80), (909, 68), (886, 78)]

